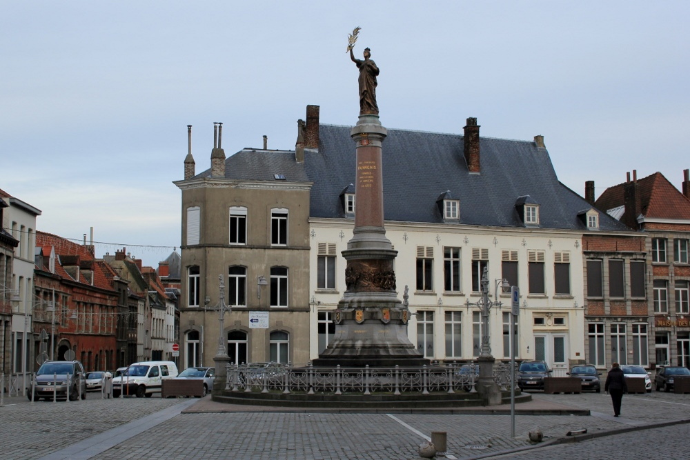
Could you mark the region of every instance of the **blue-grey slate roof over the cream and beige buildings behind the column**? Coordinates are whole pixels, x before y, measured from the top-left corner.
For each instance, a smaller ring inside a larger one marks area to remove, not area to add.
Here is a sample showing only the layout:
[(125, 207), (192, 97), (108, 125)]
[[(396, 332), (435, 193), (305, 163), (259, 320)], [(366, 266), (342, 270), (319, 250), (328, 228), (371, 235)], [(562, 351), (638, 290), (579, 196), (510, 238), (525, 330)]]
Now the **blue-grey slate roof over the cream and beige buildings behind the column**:
[[(244, 149), (226, 159), (226, 179), (313, 183), (310, 216), (344, 218), (340, 194), (355, 183), (355, 142), (350, 126), (319, 124), (319, 148), (295, 152)], [(382, 150), (384, 219), (442, 223), (437, 199), (449, 191), (460, 201), (461, 225), (524, 228), (516, 203), (529, 195), (539, 205), (539, 228), (586, 230), (578, 213), (591, 206), (564, 186), (549, 153), (533, 141), (480, 137), (480, 174), (469, 172), (464, 137), (388, 129)], [(194, 179), (210, 177), (210, 170)], [(600, 230), (626, 228), (600, 212)]]

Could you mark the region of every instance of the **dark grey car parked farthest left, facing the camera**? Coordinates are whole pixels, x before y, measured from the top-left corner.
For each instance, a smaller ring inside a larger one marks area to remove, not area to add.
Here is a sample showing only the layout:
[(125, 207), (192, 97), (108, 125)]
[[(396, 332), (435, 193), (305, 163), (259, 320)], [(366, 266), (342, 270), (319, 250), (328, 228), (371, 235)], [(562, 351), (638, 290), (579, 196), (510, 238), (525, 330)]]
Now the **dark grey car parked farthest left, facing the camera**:
[(84, 368), (79, 361), (45, 361), (36, 371), (36, 377), (29, 383), (26, 393), (29, 401), (67, 399), (68, 377), (70, 401), (86, 399)]

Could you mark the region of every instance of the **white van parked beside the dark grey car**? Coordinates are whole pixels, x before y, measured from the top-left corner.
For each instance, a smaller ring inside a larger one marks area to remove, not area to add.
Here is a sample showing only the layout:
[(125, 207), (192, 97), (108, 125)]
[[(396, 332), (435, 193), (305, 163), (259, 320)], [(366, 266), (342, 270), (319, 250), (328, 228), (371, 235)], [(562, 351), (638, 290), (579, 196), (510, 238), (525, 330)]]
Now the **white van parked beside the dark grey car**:
[(161, 392), (164, 379), (177, 377), (177, 365), (172, 361), (141, 361), (127, 366), (126, 370), (112, 379), (112, 396), (135, 394), (137, 398), (150, 398)]

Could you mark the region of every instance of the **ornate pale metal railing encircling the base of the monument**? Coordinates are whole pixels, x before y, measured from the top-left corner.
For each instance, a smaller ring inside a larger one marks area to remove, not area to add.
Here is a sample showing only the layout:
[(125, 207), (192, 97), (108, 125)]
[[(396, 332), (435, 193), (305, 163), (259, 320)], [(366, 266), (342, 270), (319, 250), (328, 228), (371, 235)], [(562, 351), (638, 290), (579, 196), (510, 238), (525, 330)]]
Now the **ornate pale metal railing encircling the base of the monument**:
[[(290, 364), (228, 364), (226, 390), (303, 394), (403, 394), (477, 392), (479, 366), (449, 363), (415, 368), (341, 368)], [(510, 364), (496, 363), (493, 378), (501, 390), (511, 388)]]

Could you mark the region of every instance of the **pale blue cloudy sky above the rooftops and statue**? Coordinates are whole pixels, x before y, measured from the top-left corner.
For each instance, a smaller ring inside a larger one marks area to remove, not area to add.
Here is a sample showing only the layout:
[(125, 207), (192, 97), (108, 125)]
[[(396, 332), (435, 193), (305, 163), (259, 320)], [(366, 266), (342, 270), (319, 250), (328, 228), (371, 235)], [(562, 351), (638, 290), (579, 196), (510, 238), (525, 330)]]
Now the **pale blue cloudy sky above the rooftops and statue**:
[[(371, 48), (386, 128), (544, 143), (584, 195), (690, 168), (690, 2), (0, 0), (0, 188), (37, 230), (157, 267), (181, 241), (187, 125), (230, 156), (293, 150), (297, 119), (354, 125)], [(385, 148), (385, 143), (384, 143)], [(423, 152), (420, 157), (423, 159)], [(93, 231), (91, 230), (93, 229)]]

